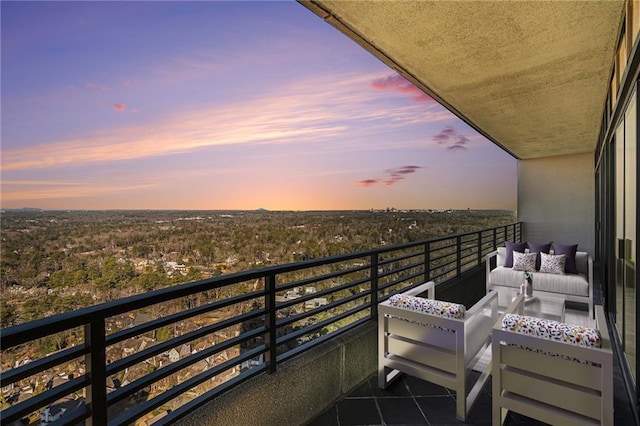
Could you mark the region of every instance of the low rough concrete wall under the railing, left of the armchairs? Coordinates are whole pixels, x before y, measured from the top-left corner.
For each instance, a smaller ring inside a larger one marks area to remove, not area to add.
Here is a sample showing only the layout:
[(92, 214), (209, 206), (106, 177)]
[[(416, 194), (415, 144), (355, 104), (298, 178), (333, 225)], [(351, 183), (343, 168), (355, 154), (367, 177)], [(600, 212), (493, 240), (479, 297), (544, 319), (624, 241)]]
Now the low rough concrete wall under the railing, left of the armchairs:
[(299, 425), (348, 394), (378, 366), (370, 321), (236, 386), (183, 418), (182, 426)]

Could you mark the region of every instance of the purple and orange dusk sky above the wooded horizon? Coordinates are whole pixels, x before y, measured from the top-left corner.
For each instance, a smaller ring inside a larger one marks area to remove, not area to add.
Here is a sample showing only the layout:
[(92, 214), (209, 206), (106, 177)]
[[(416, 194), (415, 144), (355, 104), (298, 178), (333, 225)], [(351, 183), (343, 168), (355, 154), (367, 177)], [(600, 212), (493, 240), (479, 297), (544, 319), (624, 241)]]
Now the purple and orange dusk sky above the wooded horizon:
[(1, 208), (515, 210), (515, 159), (295, 2), (0, 7)]

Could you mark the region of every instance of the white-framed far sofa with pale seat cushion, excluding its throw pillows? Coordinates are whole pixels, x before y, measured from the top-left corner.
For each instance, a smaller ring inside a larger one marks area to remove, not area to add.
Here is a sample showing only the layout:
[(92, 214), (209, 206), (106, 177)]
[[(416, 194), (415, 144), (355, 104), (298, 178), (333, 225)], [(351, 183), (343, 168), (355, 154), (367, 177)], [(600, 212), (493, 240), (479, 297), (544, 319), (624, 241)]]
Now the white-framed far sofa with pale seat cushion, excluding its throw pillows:
[[(491, 260), (495, 258), (495, 268), (492, 269)], [(523, 272), (514, 271), (504, 266), (506, 248), (499, 247), (486, 256), (487, 268), (487, 293), (490, 290), (501, 289), (517, 290), (523, 282)], [(562, 296), (564, 300), (586, 303), (589, 309), (589, 318), (593, 318), (593, 259), (584, 251), (576, 253), (577, 274), (548, 274), (544, 272), (532, 272), (533, 292), (536, 294), (547, 293), (556, 297)], [(512, 295), (515, 295), (513, 292)]]

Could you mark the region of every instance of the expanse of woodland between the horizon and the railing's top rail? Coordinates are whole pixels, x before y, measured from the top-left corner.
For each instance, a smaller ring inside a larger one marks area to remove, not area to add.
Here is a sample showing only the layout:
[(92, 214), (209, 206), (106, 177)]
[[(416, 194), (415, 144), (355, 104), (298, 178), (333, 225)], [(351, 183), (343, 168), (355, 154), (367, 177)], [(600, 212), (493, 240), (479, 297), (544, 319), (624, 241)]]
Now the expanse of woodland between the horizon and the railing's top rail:
[(513, 212), (486, 210), (5, 210), (1, 326), (220, 274), (513, 221)]

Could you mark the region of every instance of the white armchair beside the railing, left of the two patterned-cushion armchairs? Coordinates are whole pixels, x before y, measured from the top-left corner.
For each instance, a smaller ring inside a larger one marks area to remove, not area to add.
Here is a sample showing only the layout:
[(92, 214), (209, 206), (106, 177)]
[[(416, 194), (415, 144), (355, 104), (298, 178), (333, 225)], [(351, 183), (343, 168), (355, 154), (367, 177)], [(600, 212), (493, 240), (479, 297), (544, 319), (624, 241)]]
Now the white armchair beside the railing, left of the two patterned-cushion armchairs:
[[(425, 291), (428, 298), (414, 297)], [(456, 392), (456, 416), (465, 421), (490, 375), (489, 362), (467, 394), (467, 375), (490, 345), (497, 293), (487, 294), (469, 310), (434, 298), (430, 281), (378, 305), (378, 385), (385, 389), (405, 373), (444, 386)], [(411, 308), (405, 308), (408, 305)], [(446, 317), (452, 312), (459, 318)]]

